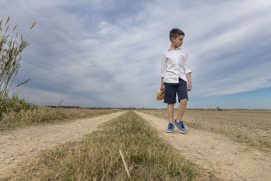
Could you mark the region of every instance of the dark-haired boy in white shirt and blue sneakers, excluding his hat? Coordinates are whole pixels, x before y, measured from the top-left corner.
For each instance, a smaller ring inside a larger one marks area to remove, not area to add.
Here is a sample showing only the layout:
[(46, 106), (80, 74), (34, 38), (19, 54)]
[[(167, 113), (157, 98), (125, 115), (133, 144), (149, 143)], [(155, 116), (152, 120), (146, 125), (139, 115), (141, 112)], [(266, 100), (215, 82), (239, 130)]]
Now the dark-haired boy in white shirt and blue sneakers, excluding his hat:
[[(191, 91), (191, 73), (188, 52), (181, 49), (185, 34), (178, 28), (170, 31), (170, 48), (162, 53), (161, 60), (161, 87), (165, 91), (164, 103), (167, 103), (167, 115), (169, 119), (168, 133), (173, 133), (174, 125), (181, 133), (186, 133), (182, 116), (185, 112), (188, 96)], [(187, 84), (188, 83), (188, 84)], [(164, 88), (165, 86), (165, 88)], [(179, 107), (177, 118), (174, 121), (174, 104), (178, 94)]]

